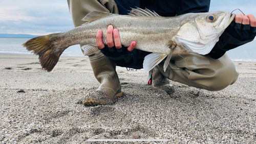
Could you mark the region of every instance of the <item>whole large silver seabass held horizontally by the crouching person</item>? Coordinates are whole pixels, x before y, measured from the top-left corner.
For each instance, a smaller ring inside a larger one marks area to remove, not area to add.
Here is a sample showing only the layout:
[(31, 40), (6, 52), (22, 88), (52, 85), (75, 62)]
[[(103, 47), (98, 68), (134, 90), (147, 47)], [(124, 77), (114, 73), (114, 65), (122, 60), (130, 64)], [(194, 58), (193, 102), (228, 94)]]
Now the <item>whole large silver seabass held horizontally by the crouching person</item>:
[(129, 46), (135, 40), (136, 49), (152, 52), (144, 59), (145, 71), (151, 70), (167, 57), (165, 70), (172, 54), (208, 54), (234, 16), (225, 11), (188, 13), (174, 17), (162, 17), (154, 11), (140, 8), (132, 9), (129, 15), (94, 11), (82, 19), (87, 22), (80, 27), (35, 37), (23, 45), (28, 51), (39, 55), (42, 68), (51, 71), (62, 52), (71, 45), (85, 45), (84, 55), (100, 52), (95, 38), (97, 30), (102, 30), (102, 40), (106, 43), (106, 30), (109, 25), (113, 25), (119, 30), (124, 46)]

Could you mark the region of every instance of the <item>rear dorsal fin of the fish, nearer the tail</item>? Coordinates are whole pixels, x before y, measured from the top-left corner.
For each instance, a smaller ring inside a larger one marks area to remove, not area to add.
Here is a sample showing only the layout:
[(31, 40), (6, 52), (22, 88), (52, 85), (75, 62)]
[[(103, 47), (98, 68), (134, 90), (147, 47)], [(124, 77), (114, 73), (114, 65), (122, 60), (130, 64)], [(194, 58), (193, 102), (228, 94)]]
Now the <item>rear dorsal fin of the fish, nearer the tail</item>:
[(91, 22), (91, 21), (94, 21), (96, 19), (103, 18), (103, 17), (110, 16), (110, 15), (114, 15), (114, 14), (108, 13), (108, 12), (93, 11), (93, 12), (88, 13), (81, 20)]

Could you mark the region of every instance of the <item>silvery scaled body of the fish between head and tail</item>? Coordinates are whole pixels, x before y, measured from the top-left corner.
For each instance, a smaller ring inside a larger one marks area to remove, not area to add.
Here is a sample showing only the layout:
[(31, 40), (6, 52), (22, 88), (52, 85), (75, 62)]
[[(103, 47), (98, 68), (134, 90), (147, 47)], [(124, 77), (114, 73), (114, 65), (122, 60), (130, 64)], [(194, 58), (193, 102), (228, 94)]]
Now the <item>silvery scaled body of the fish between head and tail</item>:
[(56, 45), (58, 47), (69, 47), (74, 44), (96, 46), (97, 30), (102, 30), (102, 40), (106, 43), (106, 29), (109, 25), (113, 25), (118, 29), (121, 43), (124, 46), (129, 46), (135, 40), (136, 49), (168, 54), (170, 49), (167, 44), (179, 29), (180, 18), (183, 17), (110, 15), (59, 33), (60, 40)]

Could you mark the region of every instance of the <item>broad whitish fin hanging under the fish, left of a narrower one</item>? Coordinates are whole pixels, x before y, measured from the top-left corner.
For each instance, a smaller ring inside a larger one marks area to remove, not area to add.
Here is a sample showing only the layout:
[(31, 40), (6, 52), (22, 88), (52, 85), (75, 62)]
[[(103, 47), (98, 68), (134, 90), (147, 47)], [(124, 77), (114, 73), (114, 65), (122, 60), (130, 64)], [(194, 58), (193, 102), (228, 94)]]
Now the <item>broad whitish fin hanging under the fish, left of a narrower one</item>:
[(166, 54), (159, 54), (159, 53), (152, 53), (145, 56), (143, 61), (143, 68), (146, 72), (153, 69), (156, 65), (158, 65), (167, 55)]

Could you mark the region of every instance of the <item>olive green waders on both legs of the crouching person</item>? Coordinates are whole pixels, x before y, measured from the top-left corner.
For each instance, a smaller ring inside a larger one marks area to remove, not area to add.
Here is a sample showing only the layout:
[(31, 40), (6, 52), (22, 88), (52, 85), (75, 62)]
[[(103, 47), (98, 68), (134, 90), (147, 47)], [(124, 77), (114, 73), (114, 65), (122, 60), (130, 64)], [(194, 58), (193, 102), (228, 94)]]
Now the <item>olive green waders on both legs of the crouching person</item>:
[[(68, 4), (75, 27), (81, 26), (84, 22), (81, 19), (92, 11), (118, 13), (114, 0), (68, 0)], [(111, 104), (116, 96), (121, 95), (115, 64), (102, 53), (91, 55), (89, 59), (100, 86), (86, 95), (84, 105)], [(193, 53), (173, 55), (165, 72), (163, 62), (152, 71), (156, 88), (170, 88), (168, 78), (189, 86), (221, 90), (233, 84), (239, 75), (226, 54), (218, 60)]]

